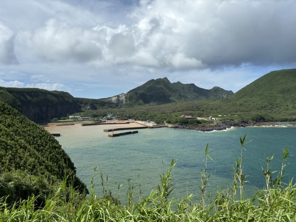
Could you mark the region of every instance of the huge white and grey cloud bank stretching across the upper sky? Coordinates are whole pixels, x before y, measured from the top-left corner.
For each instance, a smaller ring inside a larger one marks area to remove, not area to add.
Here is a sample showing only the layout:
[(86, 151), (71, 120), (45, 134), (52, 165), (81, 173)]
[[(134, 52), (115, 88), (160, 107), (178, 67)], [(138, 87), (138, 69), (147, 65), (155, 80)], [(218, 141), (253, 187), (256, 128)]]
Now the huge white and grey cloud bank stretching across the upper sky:
[(130, 13), (133, 24), (93, 27), (73, 25), (70, 9), (17, 33), (22, 61), (190, 70), (296, 60), (292, 1), (140, 1)]

